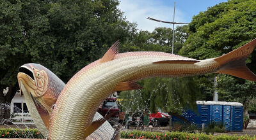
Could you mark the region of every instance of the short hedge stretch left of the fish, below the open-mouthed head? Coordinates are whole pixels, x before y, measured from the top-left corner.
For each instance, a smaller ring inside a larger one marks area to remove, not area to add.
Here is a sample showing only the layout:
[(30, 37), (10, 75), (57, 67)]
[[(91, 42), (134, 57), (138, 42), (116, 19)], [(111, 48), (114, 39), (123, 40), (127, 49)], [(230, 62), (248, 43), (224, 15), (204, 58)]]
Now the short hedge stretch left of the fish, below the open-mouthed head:
[(44, 136), (37, 129), (0, 129), (0, 138), (35, 138)]

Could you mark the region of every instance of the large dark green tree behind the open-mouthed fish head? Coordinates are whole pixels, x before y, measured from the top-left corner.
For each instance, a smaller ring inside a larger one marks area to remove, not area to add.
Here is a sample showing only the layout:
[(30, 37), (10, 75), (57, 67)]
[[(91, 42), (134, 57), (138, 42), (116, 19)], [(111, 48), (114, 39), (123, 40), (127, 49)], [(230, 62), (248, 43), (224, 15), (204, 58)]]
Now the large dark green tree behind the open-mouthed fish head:
[[(118, 1), (0, 1), (0, 104), (10, 104), (22, 64), (35, 62), (67, 82), (100, 59), (118, 39), (131, 38), (136, 25), (123, 17)], [(8, 94), (3, 89), (9, 87)], [(0, 119), (10, 112), (0, 108)]]

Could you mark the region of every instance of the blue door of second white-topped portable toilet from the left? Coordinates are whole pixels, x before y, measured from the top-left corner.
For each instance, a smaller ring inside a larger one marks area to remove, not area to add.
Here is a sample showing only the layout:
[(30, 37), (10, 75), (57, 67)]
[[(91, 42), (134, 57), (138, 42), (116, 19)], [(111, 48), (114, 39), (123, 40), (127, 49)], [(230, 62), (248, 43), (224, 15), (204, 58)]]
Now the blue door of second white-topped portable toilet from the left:
[(211, 105), (211, 121), (216, 123), (222, 123), (222, 105), (221, 104)]

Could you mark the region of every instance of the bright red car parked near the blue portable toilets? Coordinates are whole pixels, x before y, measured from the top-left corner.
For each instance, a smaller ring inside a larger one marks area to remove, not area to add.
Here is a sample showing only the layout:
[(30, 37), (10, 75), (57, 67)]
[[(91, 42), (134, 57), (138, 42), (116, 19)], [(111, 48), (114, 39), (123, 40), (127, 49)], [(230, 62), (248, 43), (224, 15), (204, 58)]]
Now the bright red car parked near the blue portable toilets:
[(166, 113), (156, 112), (149, 114), (149, 124), (153, 127), (166, 126), (169, 124), (170, 115)]

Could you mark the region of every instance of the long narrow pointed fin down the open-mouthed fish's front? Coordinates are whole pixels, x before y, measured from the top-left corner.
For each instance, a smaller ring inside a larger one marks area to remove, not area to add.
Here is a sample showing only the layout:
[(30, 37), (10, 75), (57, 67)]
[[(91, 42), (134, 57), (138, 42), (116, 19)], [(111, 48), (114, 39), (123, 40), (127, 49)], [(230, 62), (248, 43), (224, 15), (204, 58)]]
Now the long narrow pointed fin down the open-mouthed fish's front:
[(34, 97), (31, 95), (31, 98), (36, 106), (36, 110), (38, 111), (40, 117), (42, 118), (45, 127), (49, 130), (50, 128), (50, 115), (48, 111), (39, 103), (36, 102)]

